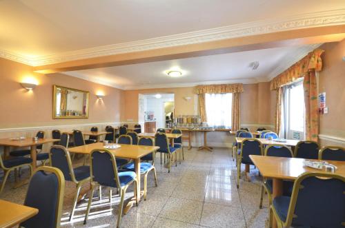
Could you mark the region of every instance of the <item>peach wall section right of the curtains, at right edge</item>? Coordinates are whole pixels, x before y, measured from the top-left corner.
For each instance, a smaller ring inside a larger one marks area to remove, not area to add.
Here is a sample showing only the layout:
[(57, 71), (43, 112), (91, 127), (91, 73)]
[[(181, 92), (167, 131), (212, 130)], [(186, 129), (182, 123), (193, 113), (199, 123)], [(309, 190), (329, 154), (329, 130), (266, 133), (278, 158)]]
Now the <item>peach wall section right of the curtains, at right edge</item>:
[(319, 133), (345, 138), (345, 39), (320, 47), (323, 69), (319, 72), (319, 92), (326, 92), (328, 114), (319, 116)]

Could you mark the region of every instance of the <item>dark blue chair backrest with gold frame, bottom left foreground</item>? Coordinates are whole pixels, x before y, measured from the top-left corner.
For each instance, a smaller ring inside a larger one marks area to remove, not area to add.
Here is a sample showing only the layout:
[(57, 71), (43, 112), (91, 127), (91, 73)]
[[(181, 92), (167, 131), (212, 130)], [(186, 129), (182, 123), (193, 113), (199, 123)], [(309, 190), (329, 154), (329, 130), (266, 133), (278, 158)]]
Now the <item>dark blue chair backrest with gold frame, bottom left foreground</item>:
[(60, 227), (65, 180), (54, 167), (39, 167), (32, 175), (24, 205), (39, 209), (39, 213), (19, 227)]

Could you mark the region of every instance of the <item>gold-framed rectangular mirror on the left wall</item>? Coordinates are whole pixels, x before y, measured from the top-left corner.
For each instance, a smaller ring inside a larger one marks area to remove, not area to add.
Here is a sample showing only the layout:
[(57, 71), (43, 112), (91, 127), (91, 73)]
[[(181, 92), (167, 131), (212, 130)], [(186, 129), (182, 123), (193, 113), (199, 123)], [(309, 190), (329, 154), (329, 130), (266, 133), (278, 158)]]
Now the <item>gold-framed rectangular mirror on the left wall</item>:
[(54, 85), (52, 118), (88, 118), (89, 92)]

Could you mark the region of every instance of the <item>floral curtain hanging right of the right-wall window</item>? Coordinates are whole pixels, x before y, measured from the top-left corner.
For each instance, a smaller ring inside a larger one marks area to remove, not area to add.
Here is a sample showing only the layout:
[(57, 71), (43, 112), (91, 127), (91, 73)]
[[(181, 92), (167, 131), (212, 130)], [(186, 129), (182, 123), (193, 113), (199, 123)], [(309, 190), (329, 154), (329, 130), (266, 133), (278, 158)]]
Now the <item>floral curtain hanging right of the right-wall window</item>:
[(316, 141), (319, 134), (319, 110), (315, 70), (304, 75), (304, 104), (306, 105), (306, 140)]

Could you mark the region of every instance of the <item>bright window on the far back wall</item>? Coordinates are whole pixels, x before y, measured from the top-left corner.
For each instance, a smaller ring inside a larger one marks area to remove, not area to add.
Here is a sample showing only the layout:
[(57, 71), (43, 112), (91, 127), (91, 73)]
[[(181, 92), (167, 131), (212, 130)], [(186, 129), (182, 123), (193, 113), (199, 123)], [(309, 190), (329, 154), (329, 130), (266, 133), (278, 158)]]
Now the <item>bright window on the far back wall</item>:
[(231, 128), (233, 94), (206, 94), (206, 116), (210, 127)]

